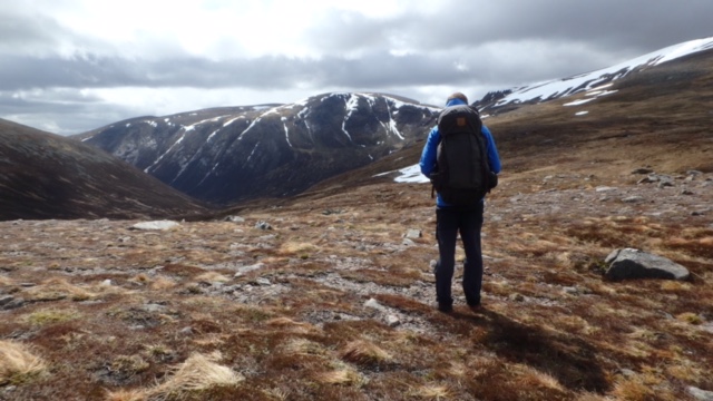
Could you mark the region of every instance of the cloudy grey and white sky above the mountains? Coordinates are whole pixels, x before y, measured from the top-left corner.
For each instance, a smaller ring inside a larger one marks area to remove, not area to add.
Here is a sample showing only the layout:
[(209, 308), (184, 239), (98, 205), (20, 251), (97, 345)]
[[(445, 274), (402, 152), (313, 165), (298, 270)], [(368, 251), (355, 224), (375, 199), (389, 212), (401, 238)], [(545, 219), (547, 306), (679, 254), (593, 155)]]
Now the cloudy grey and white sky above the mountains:
[(331, 91), (472, 101), (713, 36), (711, 0), (0, 4), (0, 118), (59, 135)]

